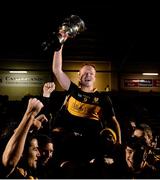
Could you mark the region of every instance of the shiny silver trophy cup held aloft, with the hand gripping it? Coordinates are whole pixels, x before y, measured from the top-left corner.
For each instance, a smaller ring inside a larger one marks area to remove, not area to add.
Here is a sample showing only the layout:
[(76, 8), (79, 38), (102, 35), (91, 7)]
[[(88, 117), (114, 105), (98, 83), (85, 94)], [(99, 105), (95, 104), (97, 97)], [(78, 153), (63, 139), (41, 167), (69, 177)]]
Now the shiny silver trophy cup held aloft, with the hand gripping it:
[(65, 18), (58, 32), (53, 32), (49, 40), (42, 43), (43, 51), (52, 49), (58, 51), (68, 38), (74, 38), (77, 34), (86, 30), (84, 21), (76, 15)]

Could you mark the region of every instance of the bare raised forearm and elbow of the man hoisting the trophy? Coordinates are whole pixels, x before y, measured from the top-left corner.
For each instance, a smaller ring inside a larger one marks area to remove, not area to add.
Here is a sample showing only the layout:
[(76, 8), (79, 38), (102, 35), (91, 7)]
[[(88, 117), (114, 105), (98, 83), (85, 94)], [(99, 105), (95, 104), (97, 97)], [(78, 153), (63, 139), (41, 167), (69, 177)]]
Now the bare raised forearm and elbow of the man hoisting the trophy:
[(63, 45), (59, 51), (54, 52), (52, 70), (61, 87), (64, 90), (68, 90), (71, 81), (62, 69), (62, 49), (63, 49)]

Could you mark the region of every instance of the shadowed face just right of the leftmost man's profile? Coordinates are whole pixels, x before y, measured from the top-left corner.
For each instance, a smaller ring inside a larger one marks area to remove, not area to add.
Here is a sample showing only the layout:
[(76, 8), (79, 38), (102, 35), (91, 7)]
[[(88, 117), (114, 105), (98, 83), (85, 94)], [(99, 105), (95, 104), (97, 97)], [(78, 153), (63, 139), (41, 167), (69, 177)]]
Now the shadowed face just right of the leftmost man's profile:
[(41, 159), (41, 163), (43, 165), (47, 164), (49, 159), (52, 158), (53, 151), (54, 151), (53, 143), (47, 143), (44, 147), (41, 148), (41, 150), (40, 150), (41, 158), (40, 159)]

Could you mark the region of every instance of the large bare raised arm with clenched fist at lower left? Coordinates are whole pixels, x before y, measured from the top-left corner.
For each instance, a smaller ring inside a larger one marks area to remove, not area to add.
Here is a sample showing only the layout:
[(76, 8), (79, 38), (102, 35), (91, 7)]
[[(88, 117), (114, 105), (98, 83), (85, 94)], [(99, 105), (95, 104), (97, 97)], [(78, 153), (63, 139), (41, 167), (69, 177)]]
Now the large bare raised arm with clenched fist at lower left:
[[(46, 117), (40, 115), (37, 118), (35, 116), (42, 109), (43, 104), (36, 98), (29, 99), (27, 110), (22, 118), (22, 121), (14, 131), (14, 134), (11, 136), (8, 141), (6, 148), (2, 155), (2, 163), (4, 167), (7, 168), (8, 175), (10, 175), (16, 165), (18, 164), (26, 141), (27, 134), (34, 124), (35, 119), (43, 121)], [(36, 120), (36, 121), (37, 121)]]

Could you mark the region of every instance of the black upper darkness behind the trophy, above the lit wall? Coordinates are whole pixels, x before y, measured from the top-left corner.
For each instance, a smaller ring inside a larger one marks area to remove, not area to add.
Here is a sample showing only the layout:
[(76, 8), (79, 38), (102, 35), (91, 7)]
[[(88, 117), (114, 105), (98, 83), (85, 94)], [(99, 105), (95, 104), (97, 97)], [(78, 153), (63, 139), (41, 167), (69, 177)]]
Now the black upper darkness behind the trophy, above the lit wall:
[[(68, 7), (22, 1), (1, 5), (0, 58), (46, 59), (41, 43), (71, 14), (84, 20), (87, 30), (65, 43), (64, 58), (158, 62), (160, 11), (157, 4), (107, 3)], [(75, 3), (76, 3), (75, 2)], [(60, 4), (60, 3), (59, 3)]]

